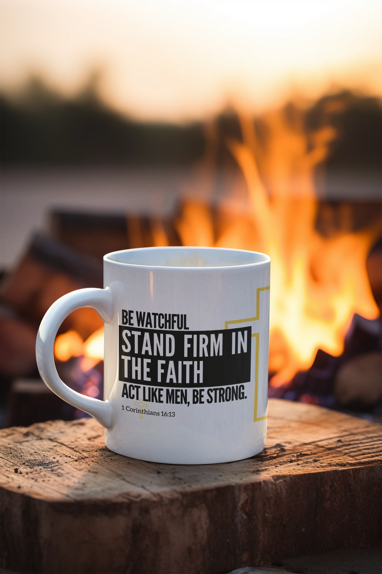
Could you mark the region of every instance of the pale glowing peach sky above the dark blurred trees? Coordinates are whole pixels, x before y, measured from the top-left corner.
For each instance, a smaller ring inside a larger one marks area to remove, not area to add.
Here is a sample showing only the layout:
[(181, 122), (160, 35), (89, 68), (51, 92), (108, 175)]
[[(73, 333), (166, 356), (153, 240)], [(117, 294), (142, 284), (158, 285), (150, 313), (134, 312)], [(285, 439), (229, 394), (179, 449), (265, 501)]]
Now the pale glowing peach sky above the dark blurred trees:
[(380, 1), (1, 0), (1, 90), (31, 75), (139, 119), (190, 121), (231, 104), (349, 87), (381, 95)]

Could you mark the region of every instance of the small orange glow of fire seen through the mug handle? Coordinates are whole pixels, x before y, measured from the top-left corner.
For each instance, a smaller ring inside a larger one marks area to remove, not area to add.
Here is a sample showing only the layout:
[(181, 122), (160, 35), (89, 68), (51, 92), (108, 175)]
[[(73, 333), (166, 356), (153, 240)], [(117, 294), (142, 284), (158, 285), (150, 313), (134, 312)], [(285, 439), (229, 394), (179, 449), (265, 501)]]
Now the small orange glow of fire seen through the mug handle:
[(100, 360), (104, 360), (104, 327), (94, 331), (85, 342), (76, 331), (70, 330), (58, 335), (54, 342), (54, 356), (61, 361), (82, 356), (81, 370), (89, 371)]

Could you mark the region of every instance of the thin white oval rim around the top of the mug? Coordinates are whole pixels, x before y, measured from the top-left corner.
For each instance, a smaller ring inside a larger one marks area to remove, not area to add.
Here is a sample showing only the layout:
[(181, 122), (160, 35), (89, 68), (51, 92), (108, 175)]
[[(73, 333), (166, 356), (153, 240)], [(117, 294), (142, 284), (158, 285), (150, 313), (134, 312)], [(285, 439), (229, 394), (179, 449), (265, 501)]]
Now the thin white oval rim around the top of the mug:
[[(153, 265), (152, 263), (129, 263), (124, 261), (116, 261), (112, 259), (112, 256), (118, 255), (120, 253), (137, 253), (139, 251), (220, 251), (220, 252), (239, 252), (242, 254), (253, 254), (261, 255), (262, 261), (255, 261), (250, 263), (236, 263), (234, 265), (208, 265), (208, 266), (183, 266), (183, 265)], [(142, 267), (146, 269), (198, 269), (198, 270), (212, 270), (212, 269), (242, 269), (243, 267), (256, 267), (259, 265), (264, 265), (265, 263), (270, 263), (269, 255), (261, 253), (260, 251), (251, 251), (249, 249), (234, 249), (233, 247), (198, 247), (198, 246), (160, 246), (160, 247), (133, 247), (132, 249), (120, 249), (117, 251), (111, 251), (104, 255), (104, 261), (108, 263), (114, 263), (115, 265), (121, 265), (125, 267), (136, 267), (141, 269)]]

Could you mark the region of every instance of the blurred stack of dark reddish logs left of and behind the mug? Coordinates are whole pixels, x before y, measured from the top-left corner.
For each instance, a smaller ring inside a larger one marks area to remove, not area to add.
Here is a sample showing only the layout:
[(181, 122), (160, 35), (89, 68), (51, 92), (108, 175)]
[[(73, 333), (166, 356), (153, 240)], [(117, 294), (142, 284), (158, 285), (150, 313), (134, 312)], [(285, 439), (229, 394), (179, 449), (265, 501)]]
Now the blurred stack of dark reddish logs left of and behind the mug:
[[(161, 233), (167, 242), (170, 238), (173, 245), (179, 243), (171, 222), (123, 214), (54, 212), (51, 234), (33, 237), (26, 254), (0, 287), (0, 377), (2, 391), (8, 395), (7, 425), (75, 416), (74, 409), (38, 378), (36, 336), (42, 317), (54, 301), (70, 291), (103, 287), (105, 253), (155, 245)], [(93, 309), (76, 309), (66, 317), (58, 334), (73, 329), (85, 340), (102, 325)], [(70, 380), (75, 378), (73, 370), (82, 377), (74, 363), (76, 360), (68, 365), (58, 363), (57, 368), (61, 378), (81, 392), (79, 382), (77, 388), (76, 381)], [(93, 377), (102, 378), (102, 364), (98, 370), (99, 374), (93, 370)], [(101, 390), (102, 381), (99, 385)]]

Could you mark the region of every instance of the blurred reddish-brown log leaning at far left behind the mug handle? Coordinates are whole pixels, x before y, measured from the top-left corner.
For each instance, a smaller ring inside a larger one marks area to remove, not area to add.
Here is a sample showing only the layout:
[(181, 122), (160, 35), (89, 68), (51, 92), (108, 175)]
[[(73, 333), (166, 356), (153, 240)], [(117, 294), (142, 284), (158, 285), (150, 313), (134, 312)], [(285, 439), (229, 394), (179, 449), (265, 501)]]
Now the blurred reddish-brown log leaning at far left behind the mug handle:
[[(90, 286), (103, 286), (101, 262), (83, 257), (48, 236), (34, 236), (0, 293), (1, 373), (9, 377), (33, 374), (37, 369), (37, 329), (45, 312), (58, 297)], [(85, 338), (101, 324), (92, 309), (77, 309), (62, 323), (60, 332), (75, 329)]]

